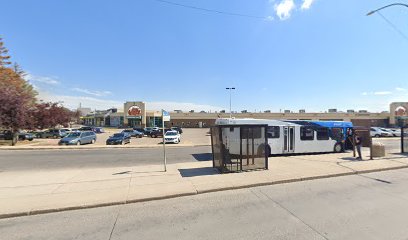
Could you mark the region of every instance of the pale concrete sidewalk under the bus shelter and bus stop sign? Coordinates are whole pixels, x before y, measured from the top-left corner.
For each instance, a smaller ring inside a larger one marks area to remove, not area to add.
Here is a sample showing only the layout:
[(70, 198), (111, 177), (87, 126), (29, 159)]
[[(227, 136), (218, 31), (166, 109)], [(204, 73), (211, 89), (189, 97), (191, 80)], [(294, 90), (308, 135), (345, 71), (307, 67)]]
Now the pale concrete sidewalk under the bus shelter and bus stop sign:
[(271, 157), (269, 170), (232, 174), (219, 174), (211, 161), (172, 164), (167, 172), (160, 165), (0, 172), (0, 218), (408, 167), (407, 155), (365, 161), (350, 156)]

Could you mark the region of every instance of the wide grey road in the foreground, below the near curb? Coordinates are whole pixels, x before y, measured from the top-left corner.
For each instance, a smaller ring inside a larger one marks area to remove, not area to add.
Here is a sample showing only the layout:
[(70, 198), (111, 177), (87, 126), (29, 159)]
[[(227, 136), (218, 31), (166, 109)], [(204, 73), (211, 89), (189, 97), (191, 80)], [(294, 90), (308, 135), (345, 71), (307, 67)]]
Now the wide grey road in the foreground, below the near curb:
[(407, 239), (408, 169), (0, 220), (13, 239)]

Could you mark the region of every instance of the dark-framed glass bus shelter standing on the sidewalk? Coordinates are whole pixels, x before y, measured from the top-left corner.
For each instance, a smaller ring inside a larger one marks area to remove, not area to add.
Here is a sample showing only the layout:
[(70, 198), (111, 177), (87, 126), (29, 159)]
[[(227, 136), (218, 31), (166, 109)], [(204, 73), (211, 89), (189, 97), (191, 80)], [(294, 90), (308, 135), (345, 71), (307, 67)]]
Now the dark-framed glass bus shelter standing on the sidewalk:
[(221, 173), (268, 169), (267, 126), (234, 124), (212, 127), (213, 167)]

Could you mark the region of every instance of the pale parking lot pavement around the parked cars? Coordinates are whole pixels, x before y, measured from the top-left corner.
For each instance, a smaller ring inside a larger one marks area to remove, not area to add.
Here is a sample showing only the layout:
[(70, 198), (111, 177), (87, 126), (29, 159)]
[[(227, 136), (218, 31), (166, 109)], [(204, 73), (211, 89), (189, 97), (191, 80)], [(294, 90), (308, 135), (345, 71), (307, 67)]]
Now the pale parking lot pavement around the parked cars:
[[(121, 132), (122, 129), (115, 128), (105, 128), (105, 133), (99, 133), (96, 137), (96, 142), (94, 144), (85, 144), (80, 147), (89, 147), (89, 146), (105, 146), (106, 140), (109, 136), (114, 133)], [(190, 145), (210, 145), (211, 139), (208, 134), (208, 128), (186, 128), (183, 129), (183, 134), (181, 134), (181, 142), (179, 144), (169, 144), (169, 145), (180, 145), (180, 146), (190, 146)], [(60, 139), (56, 138), (46, 138), (46, 139), (34, 139), (33, 141), (20, 141), (17, 145), (24, 146), (58, 146), (58, 141)], [(131, 138), (131, 142), (124, 146), (116, 145), (114, 147), (132, 147), (132, 146), (159, 146), (162, 145), (162, 138), (152, 138), (150, 136), (144, 136), (143, 138)], [(72, 146), (66, 146), (72, 147)]]

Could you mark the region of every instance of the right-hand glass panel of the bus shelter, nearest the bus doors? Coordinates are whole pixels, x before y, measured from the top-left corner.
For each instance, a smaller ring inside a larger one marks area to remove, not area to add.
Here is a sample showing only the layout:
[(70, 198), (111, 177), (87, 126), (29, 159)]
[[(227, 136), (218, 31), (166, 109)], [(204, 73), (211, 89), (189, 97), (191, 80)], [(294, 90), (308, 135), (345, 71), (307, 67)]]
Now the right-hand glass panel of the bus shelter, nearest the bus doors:
[(266, 127), (241, 127), (241, 170), (268, 168)]

